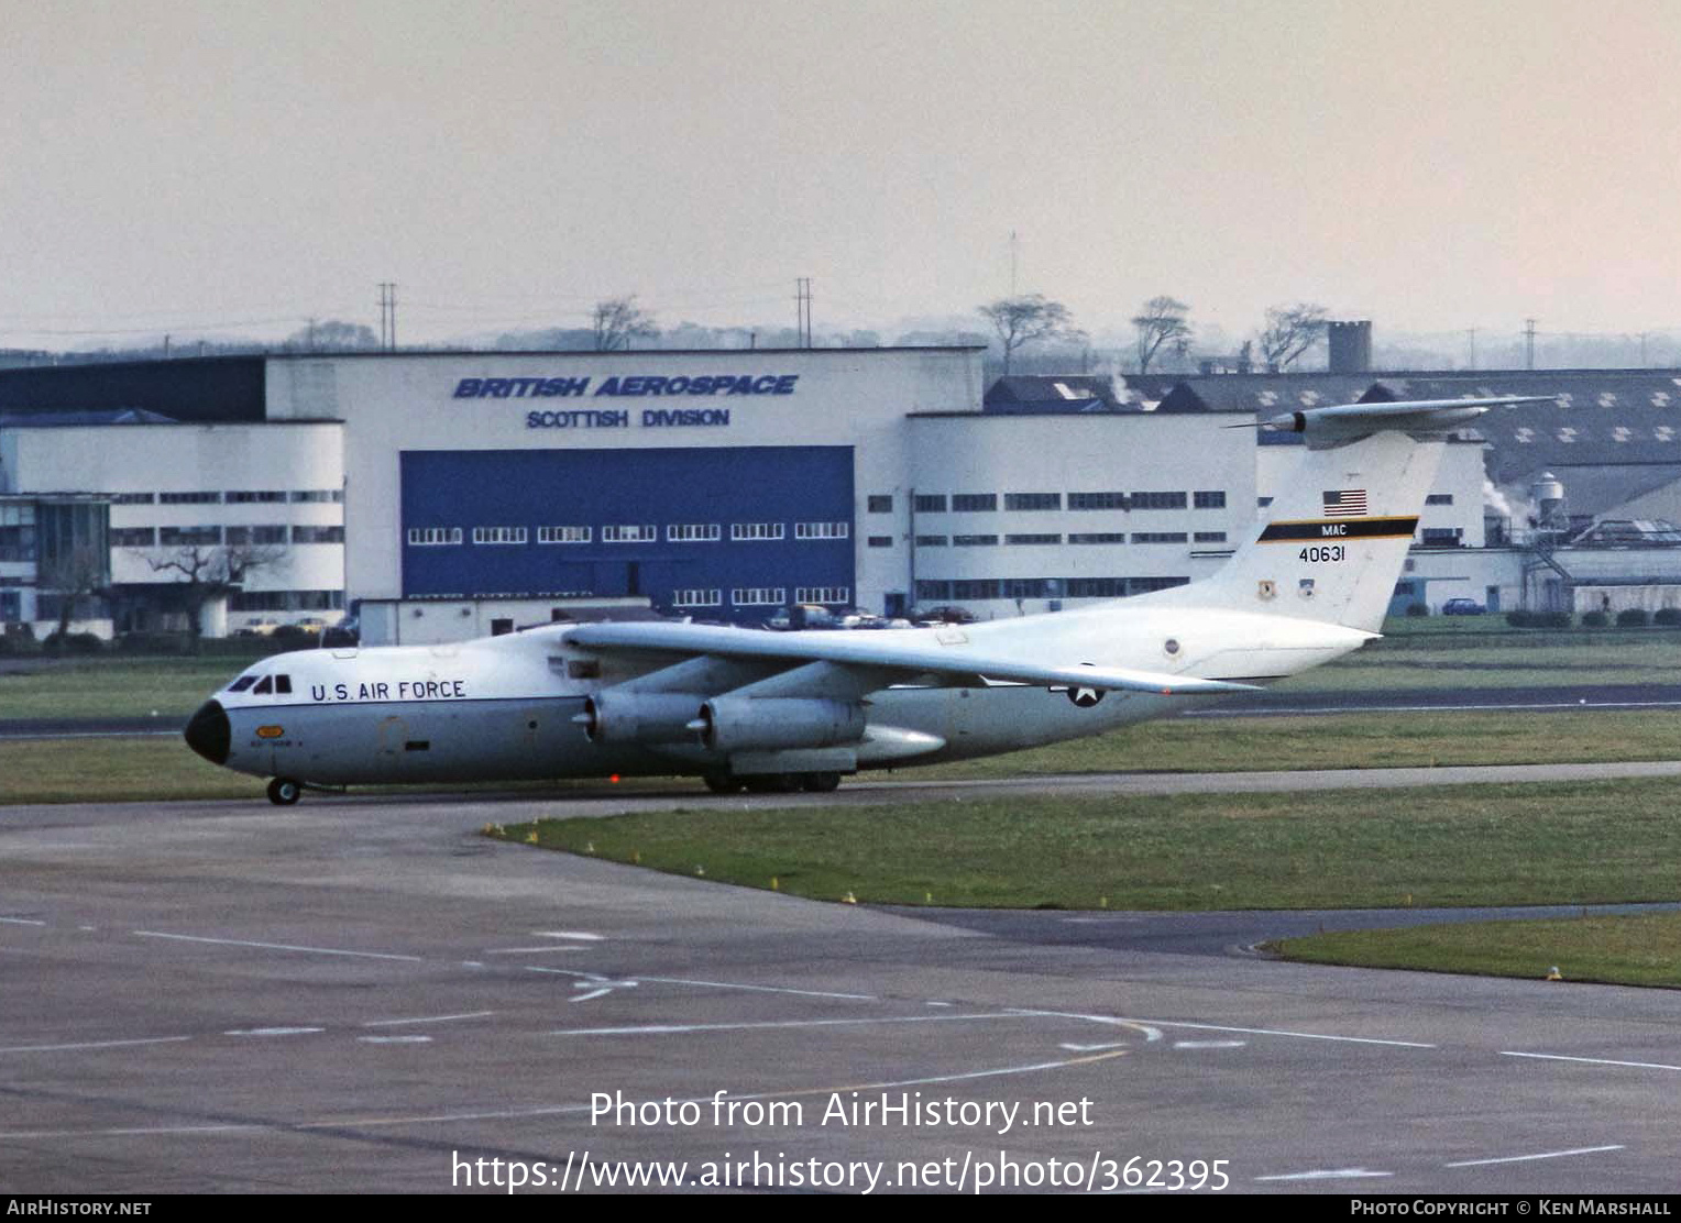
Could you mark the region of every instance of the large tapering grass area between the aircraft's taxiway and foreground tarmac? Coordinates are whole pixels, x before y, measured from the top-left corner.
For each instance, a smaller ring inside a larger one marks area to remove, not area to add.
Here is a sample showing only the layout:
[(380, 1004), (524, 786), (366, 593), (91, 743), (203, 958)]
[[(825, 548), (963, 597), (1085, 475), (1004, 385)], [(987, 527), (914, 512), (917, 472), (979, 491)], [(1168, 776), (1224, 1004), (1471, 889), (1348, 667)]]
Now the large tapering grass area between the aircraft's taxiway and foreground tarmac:
[[(824, 900), (1341, 909), (1674, 900), (1681, 781), (694, 806), (506, 828), (573, 853)], [(563, 815), (560, 811), (558, 815)], [(1607, 835), (1607, 827), (1615, 835)]]

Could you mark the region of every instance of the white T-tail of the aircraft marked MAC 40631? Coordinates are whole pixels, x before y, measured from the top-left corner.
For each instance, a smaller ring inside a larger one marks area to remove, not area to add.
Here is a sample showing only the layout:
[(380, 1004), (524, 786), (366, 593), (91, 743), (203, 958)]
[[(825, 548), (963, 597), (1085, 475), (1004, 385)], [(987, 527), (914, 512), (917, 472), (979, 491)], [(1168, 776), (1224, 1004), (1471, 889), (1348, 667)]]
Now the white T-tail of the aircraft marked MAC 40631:
[(1375, 633), (1447, 435), (1493, 407), (1536, 402), (1552, 400), (1343, 403), (1274, 417), (1261, 427), (1303, 433), (1308, 445), (1254, 534), (1214, 576), (1140, 600), (1262, 612)]

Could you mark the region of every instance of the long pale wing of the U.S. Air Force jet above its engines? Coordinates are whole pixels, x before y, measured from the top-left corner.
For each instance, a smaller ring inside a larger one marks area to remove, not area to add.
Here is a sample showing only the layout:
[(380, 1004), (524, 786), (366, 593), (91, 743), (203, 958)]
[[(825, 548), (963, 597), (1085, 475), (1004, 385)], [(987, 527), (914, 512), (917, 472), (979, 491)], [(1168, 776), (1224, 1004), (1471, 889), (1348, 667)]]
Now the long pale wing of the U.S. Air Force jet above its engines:
[(1113, 667), (1054, 667), (1019, 659), (995, 659), (965, 645), (941, 645), (933, 632), (928, 643), (872, 640), (876, 632), (765, 633), (750, 628), (674, 623), (597, 623), (568, 628), (561, 638), (585, 650), (681, 653), (691, 657), (785, 660), (790, 667), (829, 662), (876, 672), (948, 675), (1014, 680), (1019, 684), (1069, 685), (1157, 695), (1252, 692), (1251, 684), (1229, 684), (1190, 675), (1167, 675)]

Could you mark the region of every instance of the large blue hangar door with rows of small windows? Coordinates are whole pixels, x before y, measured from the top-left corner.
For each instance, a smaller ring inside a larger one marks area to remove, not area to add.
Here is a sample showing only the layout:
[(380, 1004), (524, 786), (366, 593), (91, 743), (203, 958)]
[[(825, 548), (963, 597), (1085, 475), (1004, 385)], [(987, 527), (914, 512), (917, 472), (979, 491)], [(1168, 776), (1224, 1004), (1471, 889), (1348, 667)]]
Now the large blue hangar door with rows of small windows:
[(852, 447), (403, 450), (405, 598), (852, 603)]

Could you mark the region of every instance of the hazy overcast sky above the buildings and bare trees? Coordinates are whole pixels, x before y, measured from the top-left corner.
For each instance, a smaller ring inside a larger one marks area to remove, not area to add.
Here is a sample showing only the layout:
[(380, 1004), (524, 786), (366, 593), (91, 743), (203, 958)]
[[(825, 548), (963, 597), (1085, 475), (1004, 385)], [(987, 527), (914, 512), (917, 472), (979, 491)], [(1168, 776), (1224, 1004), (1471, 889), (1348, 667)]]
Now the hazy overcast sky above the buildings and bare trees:
[(792, 326), (802, 276), (891, 333), (1012, 230), (1096, 333), (1681, 328), (1674, 0), (0, 0), (0, 344), (380, 281), (403, 339)]

